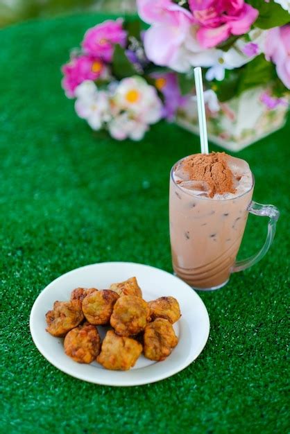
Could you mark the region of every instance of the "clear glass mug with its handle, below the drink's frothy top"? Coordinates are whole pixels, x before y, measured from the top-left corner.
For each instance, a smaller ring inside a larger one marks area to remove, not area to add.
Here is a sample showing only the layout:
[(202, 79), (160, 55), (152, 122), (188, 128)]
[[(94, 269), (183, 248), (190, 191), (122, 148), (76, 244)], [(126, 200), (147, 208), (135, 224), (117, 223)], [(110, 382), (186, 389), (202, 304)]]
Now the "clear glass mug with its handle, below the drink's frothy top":
[[(173, 270), (192, 288), (215, 290), (228, 283), (230, 274), (246, 270), (268, 252), (275, 235), (279, 210), (252, 200), (255, 179), (249, 191), (231, 199), (194, 195), (176, 184), (170, 173), (169, 226)], [(261, 250), (236, 261), (248, 213), (267, 216), (268, 234)]]

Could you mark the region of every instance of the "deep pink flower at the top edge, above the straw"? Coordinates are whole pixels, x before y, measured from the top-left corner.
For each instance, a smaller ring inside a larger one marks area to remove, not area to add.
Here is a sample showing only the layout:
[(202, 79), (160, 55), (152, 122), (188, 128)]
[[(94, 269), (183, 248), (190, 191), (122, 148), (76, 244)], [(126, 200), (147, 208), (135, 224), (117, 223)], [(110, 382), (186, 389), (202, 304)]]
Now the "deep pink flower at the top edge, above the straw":
[(211, 48), (226, 40), (230, 35), (243, 35), (250, 30), (259, 12), (244, 0), (205, 1), (189, 0), (194, 19), (200, 25), (197, 39), (205, 48)]

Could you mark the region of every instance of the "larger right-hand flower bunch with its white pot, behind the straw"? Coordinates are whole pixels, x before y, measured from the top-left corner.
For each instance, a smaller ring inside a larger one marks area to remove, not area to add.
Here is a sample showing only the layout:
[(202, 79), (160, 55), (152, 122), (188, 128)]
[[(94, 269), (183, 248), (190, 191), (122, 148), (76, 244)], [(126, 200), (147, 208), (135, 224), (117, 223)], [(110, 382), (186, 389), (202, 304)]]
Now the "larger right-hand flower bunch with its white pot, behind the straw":
[[(280, 3), (280, 4), (278, 4)], [(182, 94), (194, 94), (203, 67), (212, 141), (244, 148), (284, 124), (290, 88), (289, 0), (139, 0), (149, 60), (176, 71)], [(177, 122), (198, 132), (196, 101)]]

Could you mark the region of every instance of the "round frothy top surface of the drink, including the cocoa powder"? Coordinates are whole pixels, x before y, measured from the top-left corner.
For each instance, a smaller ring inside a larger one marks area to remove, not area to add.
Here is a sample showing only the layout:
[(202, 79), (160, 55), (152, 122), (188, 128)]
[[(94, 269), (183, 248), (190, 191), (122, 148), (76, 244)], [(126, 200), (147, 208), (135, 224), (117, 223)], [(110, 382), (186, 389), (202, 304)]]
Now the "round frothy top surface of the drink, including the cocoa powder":
[(253, 186), (248, 163), (225, 153), (185, 157), (176, 164), (173, 180), (195, 196), (219, 200), (237, 198)]

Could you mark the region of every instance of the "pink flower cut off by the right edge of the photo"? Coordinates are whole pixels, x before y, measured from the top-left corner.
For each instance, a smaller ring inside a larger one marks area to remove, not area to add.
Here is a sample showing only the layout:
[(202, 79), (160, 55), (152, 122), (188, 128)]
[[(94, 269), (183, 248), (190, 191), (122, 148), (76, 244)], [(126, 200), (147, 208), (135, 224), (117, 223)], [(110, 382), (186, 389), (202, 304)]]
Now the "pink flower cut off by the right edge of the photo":
[(290, 25), (271, 28), (265, 44), (265, 57), (276, 65), (278, 77), (290, 89)]

